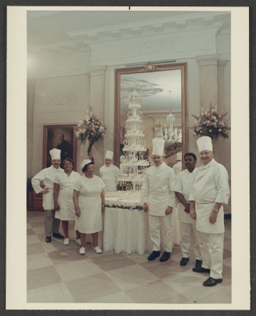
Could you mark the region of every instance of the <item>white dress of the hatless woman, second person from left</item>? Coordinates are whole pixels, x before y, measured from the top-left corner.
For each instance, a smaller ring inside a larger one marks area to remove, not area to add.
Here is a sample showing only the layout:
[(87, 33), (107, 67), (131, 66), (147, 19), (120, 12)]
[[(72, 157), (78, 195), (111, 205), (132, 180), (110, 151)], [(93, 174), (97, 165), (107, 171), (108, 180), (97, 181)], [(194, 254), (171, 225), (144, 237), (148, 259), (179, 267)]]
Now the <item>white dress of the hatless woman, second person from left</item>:
[(69, 176), (65, 172), (56, 175), (54, 183), (58, 183), (58, 185), (60, 185), (58, 192), (58, 206), (60, 209), (55, 212), (55, 218), (63, 221), (75, 220), (73, 186), (80, 177), (80, 174), (75, 171), (72, 171)]

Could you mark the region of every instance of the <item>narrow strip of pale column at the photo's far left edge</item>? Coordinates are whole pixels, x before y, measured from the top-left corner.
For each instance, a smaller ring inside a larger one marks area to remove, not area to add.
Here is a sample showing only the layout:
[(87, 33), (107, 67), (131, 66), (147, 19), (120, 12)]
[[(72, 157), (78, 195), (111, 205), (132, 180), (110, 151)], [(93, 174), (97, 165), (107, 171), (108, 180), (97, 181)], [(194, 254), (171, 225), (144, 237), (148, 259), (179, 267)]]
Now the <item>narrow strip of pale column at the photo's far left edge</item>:
[(33, 114), (36, 79), (27, 82), (27, 177), (33, 175)]

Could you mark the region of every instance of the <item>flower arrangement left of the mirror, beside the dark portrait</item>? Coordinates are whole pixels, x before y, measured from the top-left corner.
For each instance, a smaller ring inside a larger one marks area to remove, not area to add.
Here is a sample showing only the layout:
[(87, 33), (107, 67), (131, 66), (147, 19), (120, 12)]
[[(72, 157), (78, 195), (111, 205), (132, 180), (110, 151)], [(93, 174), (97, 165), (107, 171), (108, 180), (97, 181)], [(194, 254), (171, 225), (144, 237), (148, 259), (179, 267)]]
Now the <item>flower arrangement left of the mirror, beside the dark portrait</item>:
[(97, 117), (97, 115), (92, 113), (92, 108), (86, 112), (85, 118), (80, 119), (78, 126), (75, 127), (75, 136), (80, 139), (81, 143), (85, 143), (86, 140), (89, 141), (89, 146), (87, 148), (87, 154), (92, 149), (92, 145), (102, 139), (103, 135), (106, 134), (107, 127), (103, 122)]

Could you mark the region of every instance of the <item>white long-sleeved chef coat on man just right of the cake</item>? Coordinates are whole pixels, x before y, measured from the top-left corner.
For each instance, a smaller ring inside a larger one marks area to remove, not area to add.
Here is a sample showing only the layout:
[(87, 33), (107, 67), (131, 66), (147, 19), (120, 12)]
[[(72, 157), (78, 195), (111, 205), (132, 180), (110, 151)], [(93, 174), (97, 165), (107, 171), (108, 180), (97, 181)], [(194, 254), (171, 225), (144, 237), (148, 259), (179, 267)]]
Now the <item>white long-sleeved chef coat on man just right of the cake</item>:
[(172, 187), (175, 173), (168, 165), (153, 165), (146, 171), (142, 182), (141, 202), (149, 203), (149, 215), (165, 216), (166, 208), (177, 207), (178, 199)]

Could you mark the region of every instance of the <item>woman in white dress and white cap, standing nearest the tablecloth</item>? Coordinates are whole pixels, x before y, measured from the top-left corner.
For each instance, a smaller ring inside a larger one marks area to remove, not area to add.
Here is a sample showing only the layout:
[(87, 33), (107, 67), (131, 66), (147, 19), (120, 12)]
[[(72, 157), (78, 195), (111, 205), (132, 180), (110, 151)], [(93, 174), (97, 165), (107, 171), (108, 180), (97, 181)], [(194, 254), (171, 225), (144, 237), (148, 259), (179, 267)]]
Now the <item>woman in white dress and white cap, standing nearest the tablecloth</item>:
[(105, 210), (104, 182), (93, 175), (95, 171), (94, 161), (85, 159), (82, 161), (82, 175), (75, 182), (73, 201), (75, 214), (78, 217), (78, 231), (81, 236), (80, 254), (85, 254), (85, 236), (92, 234), (93, 249), (100, 254), (102, 250), (97, 244), (98, 232), (102, 230), (102, 212)]

